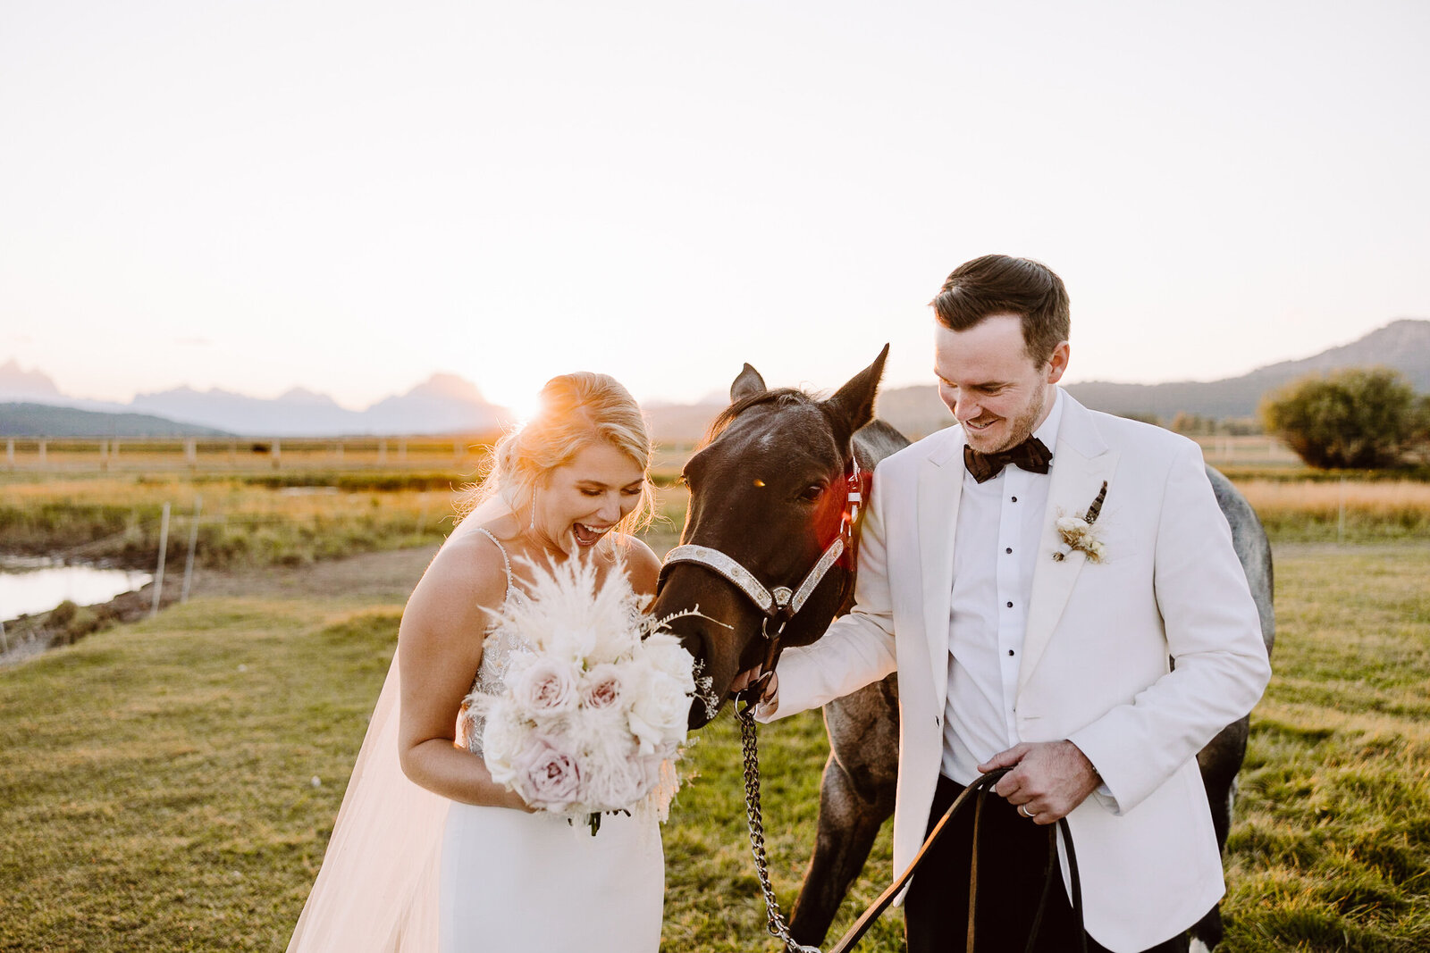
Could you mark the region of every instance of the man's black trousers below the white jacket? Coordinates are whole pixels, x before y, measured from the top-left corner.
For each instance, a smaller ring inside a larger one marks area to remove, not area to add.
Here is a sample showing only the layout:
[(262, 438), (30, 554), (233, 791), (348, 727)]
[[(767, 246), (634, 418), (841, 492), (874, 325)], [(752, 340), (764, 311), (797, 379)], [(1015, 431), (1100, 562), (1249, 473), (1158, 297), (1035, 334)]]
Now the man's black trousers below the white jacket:
[[(964, 786), (938, 777), (927, 837)], [(1048, 863), (1048, 829), (1018, 814), (1018, 809), (990, 793), (978, 830), (977, 953), (1022, 953), (1042, 896)], [(968, 942), (968, 864), (972, 859), (974, 812), (967, 807), (950, 822), (938, 844), (919, 864), (904, 900), (909, 953), (972, 953)], [(1038, 930), (1038, 953), (1077, 950), (1077, 922), (1055, 874)], [(1147, 953), (1184, 953), (1187, 934), (1158, 943)], [(1107, 953), (1093, 937), (1088, 953)]]

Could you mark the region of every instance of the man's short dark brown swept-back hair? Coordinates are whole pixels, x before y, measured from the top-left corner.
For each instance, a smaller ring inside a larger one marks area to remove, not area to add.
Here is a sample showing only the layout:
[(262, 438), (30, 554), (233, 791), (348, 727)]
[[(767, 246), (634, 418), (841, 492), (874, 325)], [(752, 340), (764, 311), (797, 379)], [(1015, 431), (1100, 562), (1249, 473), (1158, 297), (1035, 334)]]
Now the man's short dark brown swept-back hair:
[(965, 331), (992, 314), (1022, 319), (1022, 344), (1034, 364), (1052, 357), (1071, 329), (1068, 290), (1052, 269), (1032, 259), (985, 254), (964, 261), (930, 304), (940, 323)]

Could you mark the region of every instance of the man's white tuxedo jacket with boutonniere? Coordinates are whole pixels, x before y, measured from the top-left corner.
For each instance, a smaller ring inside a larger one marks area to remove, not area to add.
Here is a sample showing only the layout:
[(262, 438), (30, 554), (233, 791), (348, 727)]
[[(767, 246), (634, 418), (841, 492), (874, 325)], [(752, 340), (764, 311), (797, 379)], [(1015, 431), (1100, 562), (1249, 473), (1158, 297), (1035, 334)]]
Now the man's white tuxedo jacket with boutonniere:
[[(1111, 792), (1088, 797), (1068, 824), (1087, 930), (1121, 953), (1190, 927), (1221, 897), (1195, 754), (1251, 710), (1271, 670), (1197, 444), (1062, 399), (1018, 672), (1017, 740), (1072, 740)], [(950, 427), (878, 466), (854, 610), (779, 662), (774, 717), (898, 670), (895, 872), (922, 843), (942, 759), (962, 450), (962, 430)], [(1080, 552), (1055, 562), (1055, 519), (1084, 514), (1104, 480), (1094, 524), (1103, 562)]]

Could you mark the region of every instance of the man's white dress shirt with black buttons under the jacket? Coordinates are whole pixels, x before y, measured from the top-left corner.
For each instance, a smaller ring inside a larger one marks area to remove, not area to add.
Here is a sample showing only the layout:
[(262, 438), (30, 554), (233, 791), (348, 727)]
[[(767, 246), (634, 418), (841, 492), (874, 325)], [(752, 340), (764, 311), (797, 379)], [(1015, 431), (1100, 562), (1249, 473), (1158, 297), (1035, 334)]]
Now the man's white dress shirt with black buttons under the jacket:
[[(1052, 410), (1032, 431), (1050, 449), (1062, 419), (1062, 390), (1054, 393)], [(1014, 700), (1051, 479), (1012, 464), (984, 483), (960, 471), (941, 770), (971, 784), (980, 763), (1021, 740)]]

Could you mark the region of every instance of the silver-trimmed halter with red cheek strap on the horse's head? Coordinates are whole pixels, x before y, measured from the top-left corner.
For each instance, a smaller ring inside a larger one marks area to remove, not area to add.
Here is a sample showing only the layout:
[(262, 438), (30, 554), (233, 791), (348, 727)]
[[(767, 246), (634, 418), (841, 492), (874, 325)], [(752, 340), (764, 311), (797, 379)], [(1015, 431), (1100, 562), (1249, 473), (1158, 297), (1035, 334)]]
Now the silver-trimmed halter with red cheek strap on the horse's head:
[[(722, 579), (734, 584), (735, 589), (745, 593), (749, 602), (764, 614), (759, 634), (769, 642), (769, 650), (765, 657), (766, 672), (774, 666), (778, 656), (776, 642), (784, 633), (785, 626), (799, 614), (805, 602), (808, 602), (819, 583), (824, 582), (828, 572), (841, 562), (841, 557), (844, 557), (849, 570), (849, 579), (854, 577), (859, 509), (864, 504), (864, 496), (868, 493), (869, 474), (859, 469), (859, 461), (852, 456), (849, 457), (849, 463), (851, 470), (845, 474), (848, 496), (839, 520), (839, 532), (834, 537), (834, 542), (819, 554), (819, 559), (815, 560), (809, 572), (805, 573), (804, 580), (797, 589), (788, 586), (766, 587), (734, 556), (709, 546), (676, 546), (666, 553), (665, 563), (661, 566), (661, 576), (664, 579), (665, 572), (676, 563), (696, 563), (718, 573)], [(774, 632), (769, 630), (771, 623), (776, 626)]]

